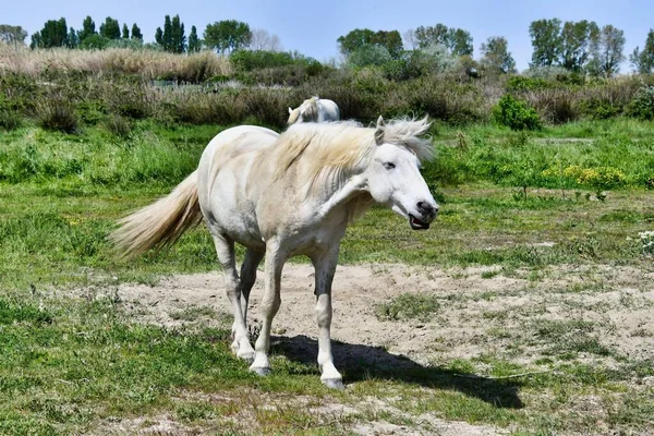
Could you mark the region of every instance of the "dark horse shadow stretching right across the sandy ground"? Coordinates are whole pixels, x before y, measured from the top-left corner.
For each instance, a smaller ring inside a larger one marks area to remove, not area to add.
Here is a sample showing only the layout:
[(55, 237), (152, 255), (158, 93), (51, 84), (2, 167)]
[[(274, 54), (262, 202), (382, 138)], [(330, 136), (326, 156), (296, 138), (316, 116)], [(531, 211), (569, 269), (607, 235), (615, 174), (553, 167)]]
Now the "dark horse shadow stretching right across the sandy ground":
[[(318, 343), (304, 335), (272, 337), (271, 352), (287, 359), (316, 365)], [(391, 354), (380, 347), (331, 341), (334, 363), (343, 383), (385, 379), (414, 384), (431, 389), (456, 390), (497, 408), (521, 409), (520, 380), (497, 379), (464, 374), (439, 366), (425, 366), (403, 355)]]

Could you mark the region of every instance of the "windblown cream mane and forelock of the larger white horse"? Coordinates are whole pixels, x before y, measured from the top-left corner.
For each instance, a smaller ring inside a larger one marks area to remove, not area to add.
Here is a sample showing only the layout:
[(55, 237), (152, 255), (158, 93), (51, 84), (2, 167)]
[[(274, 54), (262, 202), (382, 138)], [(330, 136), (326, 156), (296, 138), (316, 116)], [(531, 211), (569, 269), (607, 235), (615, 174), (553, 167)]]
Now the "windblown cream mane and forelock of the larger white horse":
[(428, 126), (426, 117), (391, 120), (378, 128), (363, 128), (354, 121), (293, 124), (272, 147), (277, 154), (275, 179), (281, 179), (301, 159), (308, 159), (305, 173), (299, 174), (308, 182), (307, 194), (320, 186), (341, 185), (380, 140), (408, 148), (421, 160), (429, 159), (434, 155), (432, 143), (417, 137)]

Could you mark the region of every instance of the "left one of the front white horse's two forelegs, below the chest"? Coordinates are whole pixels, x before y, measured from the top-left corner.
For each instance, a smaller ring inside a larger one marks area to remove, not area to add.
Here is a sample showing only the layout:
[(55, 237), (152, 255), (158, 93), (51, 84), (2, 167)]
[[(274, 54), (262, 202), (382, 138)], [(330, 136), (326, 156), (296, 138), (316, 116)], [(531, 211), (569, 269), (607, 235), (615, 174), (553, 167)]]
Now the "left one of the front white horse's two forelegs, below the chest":
[(281, 304), (279, 288), (281, 270), (286, 259), (286, 255), (281, 252), (276, 241), (269, 241), (266, 244), (266, 286), (261, 307), (263, 325), (259, 337), (254, 346), (254, 362), (250, 366), (250, 371), (258, 375), (266, 375), (270, 372), (270, 362), (268, 361), (270, 328), (272, 327), (272, 318)]

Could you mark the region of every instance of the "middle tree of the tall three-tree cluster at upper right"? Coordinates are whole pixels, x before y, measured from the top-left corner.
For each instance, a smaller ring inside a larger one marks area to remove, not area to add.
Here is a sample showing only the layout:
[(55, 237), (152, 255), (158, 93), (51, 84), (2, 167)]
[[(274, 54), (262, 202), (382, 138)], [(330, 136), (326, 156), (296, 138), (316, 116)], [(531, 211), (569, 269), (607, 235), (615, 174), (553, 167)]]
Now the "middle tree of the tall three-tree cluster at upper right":
[(595, 22), (566, 22), (560, 37), (559, 64), (569, 71), (584, 71), (598, 37), (600, 29)]

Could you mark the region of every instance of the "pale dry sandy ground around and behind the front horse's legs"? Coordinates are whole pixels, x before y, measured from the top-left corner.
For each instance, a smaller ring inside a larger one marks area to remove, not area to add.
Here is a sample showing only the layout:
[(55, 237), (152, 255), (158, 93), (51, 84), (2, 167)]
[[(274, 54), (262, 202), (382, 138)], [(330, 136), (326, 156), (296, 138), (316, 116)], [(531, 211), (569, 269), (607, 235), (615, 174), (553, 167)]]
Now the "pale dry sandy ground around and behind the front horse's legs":
[[(493, 268), (339, 266), (334, 282), (332, 322), (332, 339), (342, 342), (334, 349), (337, 367), (352, 362), (376, 367), (415, 366), (483, 354), (532, 364), (552, 347), (535, 334), (534, 323), (543, 319), (588, 322), (586, 327), (591, 327), (584, 334), (616, 353), (630, 359), (654, 359), (654, 268), (593, 265), (559, 266), (538, 272), (495, 272), (498, 270)], [(313, 361), (317, 351), (313, 287), (311, 266), (287, 265), (282, 304), (274, 323), (274, 347), (292, 349), (305, 361)], [(173, 276), (154, 287), (121, 284), (117, 292), (137, 320), (166, 326), (189, 322), (225, 325), (226, 317), (220, 314), (230, 312), (219, 272)], [(262, 292), (259, 279), (251, 299), (249, 322), (253, 326), (261, 318), (257, 304)], [(378, 319), (375, 307), (401, 293), (434, 295), (439, 308), (423, 319)], [(206, 306), (217, 312), (215, 316), (207, 315), (210, 311), (205, 310), (199, 318), (180, 319), (185, 312)], [(508, 347), (511, 344), (512, 350)], [(610, 365), (613, 358), (591, 355), (589, 359), (602, 359), (603, 364)], [(377, 407), (390, 405), (382, 401)], [(178, 424), (172, 421), (166, 424), (166, 420), (161, 417), (157, 425), (172, 426), (169, 429), (141, 427), (141, 431), (145, 434), (185, 433), (174, 427)], [(350, 429), (365, 435), (506, 432), (445, 422), (431, 415), (423, 416), (423, 421), (424, 425), (411, 428), (376, 422), (356, 424)], [(129, 423), (120, 425), (126, 429), (122, 426)]]

